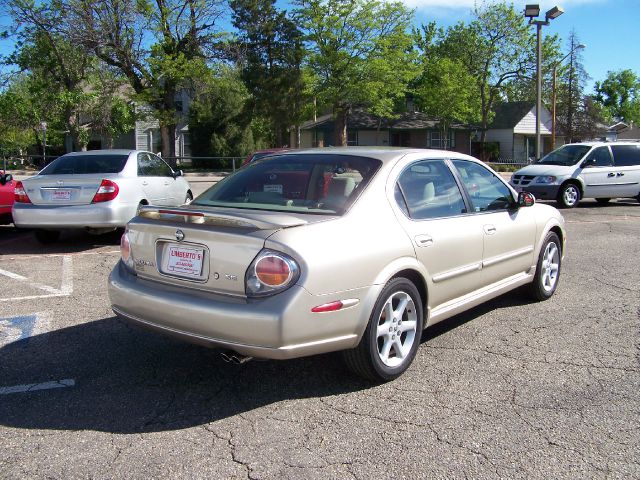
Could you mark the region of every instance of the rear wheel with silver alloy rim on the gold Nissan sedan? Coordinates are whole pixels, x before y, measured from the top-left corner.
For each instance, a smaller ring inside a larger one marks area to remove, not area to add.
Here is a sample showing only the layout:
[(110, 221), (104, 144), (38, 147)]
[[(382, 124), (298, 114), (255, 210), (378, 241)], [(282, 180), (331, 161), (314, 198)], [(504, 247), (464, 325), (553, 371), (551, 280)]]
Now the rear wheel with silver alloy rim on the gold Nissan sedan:
[(416, 356), (423, 324), (415, 285), (406, 278), (391, 279), (376, 300), (360, 343), (343, 352), (347, 367), (376, 382), (398, 378)]

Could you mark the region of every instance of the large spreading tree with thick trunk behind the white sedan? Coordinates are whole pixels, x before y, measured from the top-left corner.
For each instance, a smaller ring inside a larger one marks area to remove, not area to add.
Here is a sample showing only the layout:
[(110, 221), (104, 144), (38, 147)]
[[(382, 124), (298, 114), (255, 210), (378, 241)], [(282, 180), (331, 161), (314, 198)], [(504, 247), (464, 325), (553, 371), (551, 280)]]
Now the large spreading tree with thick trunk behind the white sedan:
[(222, 0), (63, 0), (69, 38), (117, 68), (160, 123), (162, 154), (175, 156), (176, 96), (207, 73)]

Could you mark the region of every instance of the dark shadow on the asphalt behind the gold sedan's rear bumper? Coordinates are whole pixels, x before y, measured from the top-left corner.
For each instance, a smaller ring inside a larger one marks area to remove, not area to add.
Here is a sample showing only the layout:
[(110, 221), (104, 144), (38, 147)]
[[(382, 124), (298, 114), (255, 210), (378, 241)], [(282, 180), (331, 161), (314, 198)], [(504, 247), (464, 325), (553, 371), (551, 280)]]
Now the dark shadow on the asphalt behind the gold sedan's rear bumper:
[(0, 348), (0, 386), (75, 385), (0, 395), (0, 424), (27, 429), (157, 432), (286, 399), (371, 388), (339, 355), (224, 363), (218, 352), (132, 328), (115, 317)]

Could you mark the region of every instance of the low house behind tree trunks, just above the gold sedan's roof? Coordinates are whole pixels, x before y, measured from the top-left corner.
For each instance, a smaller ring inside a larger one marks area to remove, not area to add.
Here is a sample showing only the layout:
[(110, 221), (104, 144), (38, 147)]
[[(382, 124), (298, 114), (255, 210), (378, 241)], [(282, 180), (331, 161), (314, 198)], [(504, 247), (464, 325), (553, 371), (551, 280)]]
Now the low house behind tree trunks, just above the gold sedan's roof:
[[(333, 145), (335, 120), (322, 115), (300, 126), (300, 148)], [(440, 121), (422, 112), (406, 112), (395, 119), (378, 118), (364, 110), (354, 109), (347, 119), (347, 145), (437, 148), (470, 153), (471, 135), (477, 128), (453, 124), (443, 138)]]

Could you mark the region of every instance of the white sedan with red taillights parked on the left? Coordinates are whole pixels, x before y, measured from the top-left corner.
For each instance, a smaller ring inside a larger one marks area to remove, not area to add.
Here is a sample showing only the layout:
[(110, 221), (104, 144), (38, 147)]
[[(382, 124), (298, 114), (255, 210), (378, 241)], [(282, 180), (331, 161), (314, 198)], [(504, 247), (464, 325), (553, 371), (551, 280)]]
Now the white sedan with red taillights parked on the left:
[(141, 205), (178, 206), (193, 198), (182, 171), (138, 150), (95, 150), (58, 157), (17, 182), (13, 219), (43, 243), (63, 229), (103, 233), (124, 227)]

